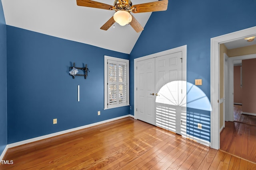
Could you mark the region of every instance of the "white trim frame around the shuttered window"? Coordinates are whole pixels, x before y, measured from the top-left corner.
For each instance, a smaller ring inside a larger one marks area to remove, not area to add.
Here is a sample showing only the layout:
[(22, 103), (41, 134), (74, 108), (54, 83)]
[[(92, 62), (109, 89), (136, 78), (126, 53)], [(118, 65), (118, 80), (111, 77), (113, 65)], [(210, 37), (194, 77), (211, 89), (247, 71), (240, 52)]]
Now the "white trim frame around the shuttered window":
[[(126, 83), (127, 83), (127, 94), (126, 94), (127, 104), (126, 105), (116, 104), (116, 105), (112, 105), (111, 107), (108, 107), (108, 60), (126, 63)], [(130, 94), (129, 93), (129, 60), (104, 55), (104, 109), (112, 109), (116, 107), (129, 106), (130, 105), (129, 94)]]

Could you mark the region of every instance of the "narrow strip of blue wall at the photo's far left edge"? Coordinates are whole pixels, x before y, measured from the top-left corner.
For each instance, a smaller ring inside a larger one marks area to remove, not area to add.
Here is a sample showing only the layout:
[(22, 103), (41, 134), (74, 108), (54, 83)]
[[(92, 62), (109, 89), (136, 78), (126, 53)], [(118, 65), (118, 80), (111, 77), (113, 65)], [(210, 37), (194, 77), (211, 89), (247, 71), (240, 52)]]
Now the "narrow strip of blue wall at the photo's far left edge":
[(0, 1), (0, 155), (7, 144), (6, 24)]

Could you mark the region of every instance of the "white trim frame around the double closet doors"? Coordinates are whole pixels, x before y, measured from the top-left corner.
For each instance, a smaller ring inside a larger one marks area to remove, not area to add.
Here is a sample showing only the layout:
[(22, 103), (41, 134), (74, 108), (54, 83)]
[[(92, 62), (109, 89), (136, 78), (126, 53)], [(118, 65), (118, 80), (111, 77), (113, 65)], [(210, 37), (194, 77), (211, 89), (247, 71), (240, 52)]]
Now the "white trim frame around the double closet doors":
[[(152, 59), (152, 58), (156, 58), (156, 57), (160, 57), (163, 55), (168, 55), (168, 54), (172, 54), (172, 53), (178, 53), (178, 52), (182, 52), (182, 80), (183, 81), (187, 81), (187, 45), (183, 45), (181, 47), (176, 47), (174, 49), (169, 49), (166, 51), (161, 51), (158, 53), (154, 53), (154, 54), (150, 54), (150, 55), (146, 55), (144, 57), (140, 57), (137, 59), (134, 59), (134, 119), (137, 119), (137, 90), (136, 90), (136, 84), (137, 84), (137, 62), (138, 61), (142, 61), (142, 60), (146, 60), (146, 59)], [(184, 97), (186, 98), (186, 91), (183, 93)], [(183, 97), (182, 95), (182, 97)], [(186, 102), (186, 101), (185, 101)], [(186, 107), (182, 107), (182, 113), (184, 113), (184, 115), (182, 116), (182, 127), (183, 129), (186, 129), (186, 112), (187, 109)], [(186, 137), (186, 131), (182, 131), (182, 136)]]

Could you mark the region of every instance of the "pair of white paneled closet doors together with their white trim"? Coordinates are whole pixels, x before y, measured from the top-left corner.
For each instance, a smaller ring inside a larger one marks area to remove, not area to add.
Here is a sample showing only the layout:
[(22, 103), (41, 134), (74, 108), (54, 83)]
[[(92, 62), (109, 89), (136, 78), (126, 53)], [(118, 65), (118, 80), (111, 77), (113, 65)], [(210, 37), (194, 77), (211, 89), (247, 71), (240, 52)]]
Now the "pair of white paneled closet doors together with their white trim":
[(186, 135), (186, 45), (134, 60), (134, 108), (135, 119)]

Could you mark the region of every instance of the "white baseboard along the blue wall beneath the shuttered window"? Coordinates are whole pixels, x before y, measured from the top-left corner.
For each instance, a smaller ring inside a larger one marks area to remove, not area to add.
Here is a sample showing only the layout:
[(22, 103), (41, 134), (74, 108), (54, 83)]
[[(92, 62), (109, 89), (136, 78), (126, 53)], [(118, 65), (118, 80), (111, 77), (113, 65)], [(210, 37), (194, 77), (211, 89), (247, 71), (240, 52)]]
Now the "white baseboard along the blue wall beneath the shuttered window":
[(134, 117), (134, 116), (133, 115), (124, 115), (124, 116), (121, 116), (121, 117), (116, 117), (116, 118), (113, 118), (113, 119), (108, 119), (108, 120), (105, 120), (105, 121), (100, 121), (100, 122), (97, 122), (97, 123), (92, 123), (92, 124), (89, 124), (89, 125), (84, 125), (84, 126), (76, 127), (76, 128), (73, 128), (73, 129), (68, 129), (68, 130), (65, 130), (65, 131), (51, 133), (49, 135), (44, 135), (44, 136), (35, 137), (35, 138), (32, 138), (32, 139), (27, 139), (27, 140), (24, 140), (24, 141), (19, 141), (19, 142), (16, 142), (16, 143), (11, 143), (11, 144), (8, 144), (6, 147), (7, 148), (17, 147), (17, 146), (24, 145), (24, 144), (27, 144), (27, 143), (40, 141), (42, 139), (47, 139), (47, 138), (62, 135), (62, 134), (65, 134), (65, 133), (70, 133), (72, 131), (77, 131), (77, 130), (92, 127), (92, 126), (95, 126), (95, 125), (100, 125), (102, 123), (108, 123), (110, 121), (115, 121), (115, 120), (122, 119), (122, 118), (125, 118), (125, 117)]

